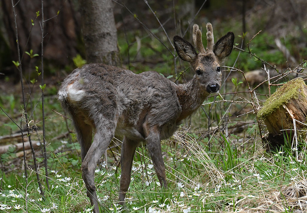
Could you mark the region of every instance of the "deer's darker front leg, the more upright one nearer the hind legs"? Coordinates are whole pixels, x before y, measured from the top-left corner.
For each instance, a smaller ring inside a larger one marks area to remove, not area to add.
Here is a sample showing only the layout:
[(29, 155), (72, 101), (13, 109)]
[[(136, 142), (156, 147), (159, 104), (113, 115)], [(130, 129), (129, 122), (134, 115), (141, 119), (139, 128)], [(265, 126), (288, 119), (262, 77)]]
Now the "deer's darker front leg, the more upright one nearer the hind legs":
[(122, 142), (121, 151), (121, 176), (120, 176), (120, 189), (119, 189), (119, 203), (124, 204), (126, 192), (128, 191), (130, 180), (131, 180), (131, 167), (135, 149), (138, 143), (124, 137)]

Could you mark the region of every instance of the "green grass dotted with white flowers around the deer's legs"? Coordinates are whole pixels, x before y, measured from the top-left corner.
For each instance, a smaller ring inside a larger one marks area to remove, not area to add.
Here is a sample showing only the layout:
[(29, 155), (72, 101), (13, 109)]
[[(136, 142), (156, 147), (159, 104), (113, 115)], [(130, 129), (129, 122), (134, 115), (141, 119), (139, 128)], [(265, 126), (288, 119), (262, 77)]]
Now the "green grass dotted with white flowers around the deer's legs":
[[(301, 181), (302, 171), (306, 170), (305, 152), (300, 153), (303, 158), (297, 161), (289, 150), (276, 154), (264, 153), (261, 151), (262, 145), (256, 145), (254, 150), (242, 151), (224, 135), (218, 137), (220, 141), (216, 142), (223, 143), (225, 149), (219, 150), (212, 146), (209, 152), (205, 151), (209, 149), (208, 141), (196, 142), (195, 136), (198, 134), (193, 131), (179, 131), (162, 143), (162, 150), (167, 153), (164, 159), (169, 183), (167, 190), (159, 186), (146, 150), (138, 149), (140, 152), (135, 157), (130, 189), (126, 196), (129, 212), (144, 212), (145, 209), (146, 212), (235, 211), (246, 207), (246, 203), (251, 208), (257, 208), (259, 200), (271, 192)], [(173, 145), (173, 142), (176, 144)], [(78, 150), (77, 143), (75, 145)], [(44, 186), (45, 200), (41, 199), (38, 192), (33, 171), (28, 170), (28, 186), (22, 171), (4, 172), (0, 203), (2, 207), (12, 207), (4, 212), (25, 212), (25, 192), (29, 193), (29, 212), (42, 212), (44, 208), (49, 209), (48, 212), (87, 212), (91, 208), (81, 179), (77, 154), (71, 151), (71, 144), (63, 143), (61, 146), (59, 148), (67, 151), (56, 154), (49, 152), (51, 188), (48, 191)], [(119, 153), (114, 151), (118, 157)], [(108, 155), (111, 156), (110, 153)], [(112, 162), (111, 159), (109, 161)], [(121, 206), (116, 204), (120, 169), (110, 162), (108, 169), (105, 161), (98, 165), (95, 172), (96, 188), (103, 212), (121, 212)], [(44, 178), (43, 168), (39, 173)], [(14, 208), (18, 205), (21, 209)], [(267, 208), (270, 211), (270, 207)]]

